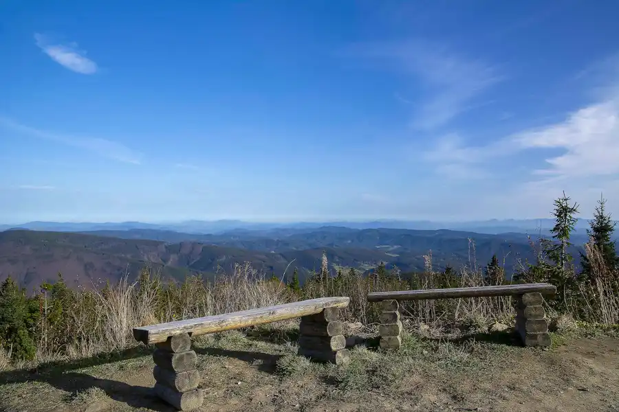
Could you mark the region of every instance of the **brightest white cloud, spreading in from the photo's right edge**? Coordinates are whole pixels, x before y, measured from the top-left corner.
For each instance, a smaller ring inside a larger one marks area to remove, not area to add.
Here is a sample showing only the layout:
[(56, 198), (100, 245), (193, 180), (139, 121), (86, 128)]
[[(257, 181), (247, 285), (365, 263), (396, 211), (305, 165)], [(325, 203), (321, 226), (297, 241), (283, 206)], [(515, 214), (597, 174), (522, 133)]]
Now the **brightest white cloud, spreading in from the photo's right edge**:
[(457, 135), (439, 139), (424, 159), (441, 172), (453, 170), (485, 170), (491, 172), (492, 160), (509, 157), (525, 150), (558, 150), (546, 157), (532, 175), (546, 183), (561, 179), (591, 179), (595, 176), (619, 174), (619, 93), (583, 106), (554, 124), (522, 130), (492, 144), (467, 146)]

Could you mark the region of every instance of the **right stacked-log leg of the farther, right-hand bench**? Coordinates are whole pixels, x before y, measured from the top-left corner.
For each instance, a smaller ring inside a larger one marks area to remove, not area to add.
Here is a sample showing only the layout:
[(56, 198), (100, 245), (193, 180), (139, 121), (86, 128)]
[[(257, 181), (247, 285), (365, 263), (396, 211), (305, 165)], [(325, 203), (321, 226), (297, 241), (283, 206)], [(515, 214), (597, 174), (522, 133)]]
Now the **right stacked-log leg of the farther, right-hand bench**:
[(550, 346), (548, 323), (541, 293), (525, 293), (516, 299), (516, 332), (525, 346)]

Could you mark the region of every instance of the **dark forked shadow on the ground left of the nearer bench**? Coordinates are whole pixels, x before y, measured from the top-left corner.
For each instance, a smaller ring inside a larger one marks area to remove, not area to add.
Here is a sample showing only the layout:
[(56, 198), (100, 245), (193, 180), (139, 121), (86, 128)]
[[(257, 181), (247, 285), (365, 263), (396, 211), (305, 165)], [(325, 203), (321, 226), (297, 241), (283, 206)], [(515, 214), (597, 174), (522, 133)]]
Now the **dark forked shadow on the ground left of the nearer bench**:
[(176, 411), (176, 409), (157, 398), (151, 387), (129, 385), (118, 380), (95, 378), (89, 374), (74, 371), (74, 369), (103, 365), (151, 354), (152, 350), (149, 347), (141, 346), (67, 363), (50, 362), (42, 363), (38, 367), (31, 369), (3, 371), (0, 373), (0, 385), (33, 381), (43, 382), (67, 392), (67, 398), (76, 396), (77, 393), (87, 391), (90, 388), (98, 388), (104, 391), (110, 399), (122, 402), (135, 409), (149, 408), (159, 412)]

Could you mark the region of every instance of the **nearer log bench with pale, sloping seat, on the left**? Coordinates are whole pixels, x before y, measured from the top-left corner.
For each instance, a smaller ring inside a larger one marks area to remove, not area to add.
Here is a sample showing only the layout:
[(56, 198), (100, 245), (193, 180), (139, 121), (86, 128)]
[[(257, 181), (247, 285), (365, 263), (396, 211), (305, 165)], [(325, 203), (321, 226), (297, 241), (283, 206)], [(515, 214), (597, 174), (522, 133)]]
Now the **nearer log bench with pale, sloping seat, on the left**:
[(340, 365), (349, 358), (340, 321), (340, 309), (348, 306), (349, 301), (348, 297), (323, 297), (160, 323), (133, 328), (133, 337), (145, 345), (156, 345), (153, 353), (155, 394), (173, 407), (189, 411), (197, 409), (204, 401), (202, 391), (198, 389), (197, 356), (191, 350), (193, 336), (301, 317), (298, 354), (314, 361)]

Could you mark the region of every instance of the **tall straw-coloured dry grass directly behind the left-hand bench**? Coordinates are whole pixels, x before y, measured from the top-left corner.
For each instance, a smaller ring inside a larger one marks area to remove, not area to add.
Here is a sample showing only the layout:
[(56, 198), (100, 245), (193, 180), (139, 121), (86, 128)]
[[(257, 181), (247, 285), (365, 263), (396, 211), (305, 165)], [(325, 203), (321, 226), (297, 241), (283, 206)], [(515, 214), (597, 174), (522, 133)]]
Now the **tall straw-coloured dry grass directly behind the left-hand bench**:
[[(164, 285), (158, 274), (146, 270), (136, 282), (124, 276), (102, 290), (76, 291), (63, 308), (69, 343), (59, 347), (41, 334), (36, 362), (84, 358), (133, 347), (138, 344), (132, 333), (137, 326), (262, 308), (292, 299), (285, 285), (265, 279), (250, 264), (237, 264), (232, 273), (221, 273), (214, 282), (191, 276), (180, 287)], [(0, 366), (1, 362), (0, 357)]]

